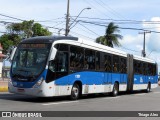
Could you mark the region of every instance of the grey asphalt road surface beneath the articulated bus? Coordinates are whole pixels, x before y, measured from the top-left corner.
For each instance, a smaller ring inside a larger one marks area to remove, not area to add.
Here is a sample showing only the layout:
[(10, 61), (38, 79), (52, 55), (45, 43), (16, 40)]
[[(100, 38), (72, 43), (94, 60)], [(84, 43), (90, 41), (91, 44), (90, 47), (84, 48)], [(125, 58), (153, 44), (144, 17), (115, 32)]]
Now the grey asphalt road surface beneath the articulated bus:
[[(120, 93), (117, 97), (101, 94), (89, 95), (77, 101), (70, 101), (67, 97), (37, 98), (4, 92), (0, 93), (0, 111), (160, 111), (160, 87), (152, 89), (150, 93), (143, 91), (132, 94)], [(158, 116), (160, 117), (160, 114)], [(159, 117), (154, 120), (158, 120)], [(97, 118), (93, 117), (92, 120), (94, 119)], [(106, 120), (103, 117), (98, 119)], [(134, 117), (110, 117), (110, 120), (112, 119), (135, 120)], [(146, 118), (139, 118), (141, 119)], [(70, 118), (66, 117), (65, 120), (70, 120)]]

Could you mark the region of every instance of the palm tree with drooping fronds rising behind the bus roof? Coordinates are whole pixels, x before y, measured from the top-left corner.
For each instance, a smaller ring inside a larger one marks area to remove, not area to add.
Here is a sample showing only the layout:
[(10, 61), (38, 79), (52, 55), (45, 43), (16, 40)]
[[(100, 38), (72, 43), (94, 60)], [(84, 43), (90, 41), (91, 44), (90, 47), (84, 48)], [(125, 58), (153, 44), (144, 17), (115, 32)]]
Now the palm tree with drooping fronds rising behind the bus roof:
[(115, 46), (121, 46), (118, 39), (122, 39), (123, 36), (120, 34), (117, 34), (117, 32), (120, 32), (117, 25), (114, 25), (113, 22), (109, 23), (109, 25), (106, 28), (106, 32), (104, 36), (100, 36), (96, 39), (97, 43), (113, 47)]

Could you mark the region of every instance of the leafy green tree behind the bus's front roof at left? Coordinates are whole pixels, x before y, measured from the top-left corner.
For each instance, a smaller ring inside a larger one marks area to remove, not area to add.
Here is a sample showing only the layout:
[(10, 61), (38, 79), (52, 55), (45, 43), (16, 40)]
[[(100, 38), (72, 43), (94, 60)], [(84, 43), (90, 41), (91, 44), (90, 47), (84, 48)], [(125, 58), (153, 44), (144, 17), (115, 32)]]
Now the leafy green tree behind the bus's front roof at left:
[(34, 23), (33, 20), (23, 21), (22, 23), (12, 23), (9, 24), (6, 29), (8, 34), (0, 37), (0, 43), (3, 46), (3, 53), (5, 54), (11, 46), (18, 45), (24, 38), (52, 35), (48, 29), (43, 28), (39, 23)]

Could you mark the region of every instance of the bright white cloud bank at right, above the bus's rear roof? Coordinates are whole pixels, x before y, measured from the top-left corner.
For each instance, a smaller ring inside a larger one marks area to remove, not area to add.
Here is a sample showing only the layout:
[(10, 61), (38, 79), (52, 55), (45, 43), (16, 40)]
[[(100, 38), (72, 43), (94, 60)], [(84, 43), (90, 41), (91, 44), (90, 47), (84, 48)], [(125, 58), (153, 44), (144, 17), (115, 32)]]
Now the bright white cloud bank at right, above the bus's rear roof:
[[(153, 17), (151, 18), (150, 21), (160, 22), (160, 17)], [(142, 24), (142, 26), (144, 29), (152, 29), (152, 31), (160, 32), (160, 24)], [(159, 56), (160, 34), (152, 33), (152, 32), (148, 34), (146, 33), (145, 38), (146, 38), (146, 57), (151, 58), (155, 60), (158, 64), (160, 64), (160, 56)], [(127, 35), (124, 35), (123, 40), (120, 42), (122, 46), (129, 49), (129, 50), (126, 50), (127, 52), (141, 55), (141, 51), (143, 49), (143, 41), (144, 41), (143, 34), (137, 34), (137, 35), (127, 34)], [(137, 52), (134, 52), (134, 51), (137, 51)]]

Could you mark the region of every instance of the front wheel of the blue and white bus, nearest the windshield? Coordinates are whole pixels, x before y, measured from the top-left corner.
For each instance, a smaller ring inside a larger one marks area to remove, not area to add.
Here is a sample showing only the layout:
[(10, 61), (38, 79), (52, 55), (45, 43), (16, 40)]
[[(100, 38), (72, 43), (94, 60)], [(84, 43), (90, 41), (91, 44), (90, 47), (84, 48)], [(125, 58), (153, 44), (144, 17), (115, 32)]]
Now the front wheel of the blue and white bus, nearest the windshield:
[(71, 90), (71, 100), (77, 100), (79, 98), (79, 93), (80, 93), (80, 87), (78, 84), (74, 84)]

